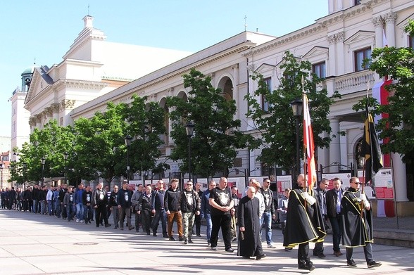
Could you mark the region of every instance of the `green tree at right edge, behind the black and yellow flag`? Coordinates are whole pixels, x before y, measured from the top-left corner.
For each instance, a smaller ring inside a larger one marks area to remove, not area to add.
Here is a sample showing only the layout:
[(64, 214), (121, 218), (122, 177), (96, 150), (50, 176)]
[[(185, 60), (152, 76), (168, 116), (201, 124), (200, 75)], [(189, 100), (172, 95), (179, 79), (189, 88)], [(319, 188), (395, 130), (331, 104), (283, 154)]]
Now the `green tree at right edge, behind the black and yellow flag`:
[[(414, 21), (411, 20), (406, 32), (414, 36)], [(388, 105), (379, 105), (369, 99), (369, 105), (374, 107), (372, 113), (387, 113), (377, 124), (380, 139), (388, 139), (382, 143), (382, 153), (399, 153), (403, 161), (414, 158), (414, 51), (412, 48), (385, 47), (372, 51), (370, 70), (377, 72), (380, 77), (389, 77), (393, 82), (385, 87), (389, 92)], [(364, 110), (365, 101), (353, 106), (354, 110)]]

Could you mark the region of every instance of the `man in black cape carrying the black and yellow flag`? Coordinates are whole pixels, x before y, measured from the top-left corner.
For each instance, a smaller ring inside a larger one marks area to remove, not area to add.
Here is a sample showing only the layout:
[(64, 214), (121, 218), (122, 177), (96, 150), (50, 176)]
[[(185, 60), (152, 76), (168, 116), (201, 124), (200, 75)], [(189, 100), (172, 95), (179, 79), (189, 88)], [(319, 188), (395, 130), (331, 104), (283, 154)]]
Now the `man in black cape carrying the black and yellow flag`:
[(372, 211), (371, 204), (363, 191), (360, 191), (358, 177), (351, 177), (350, 188), (341, 200), (342, 244), (346, 247), (346, 264), (356, 267), (353, 261), (353, 248), (363, 246), (368, 268), (380, 267), (372, 257)]

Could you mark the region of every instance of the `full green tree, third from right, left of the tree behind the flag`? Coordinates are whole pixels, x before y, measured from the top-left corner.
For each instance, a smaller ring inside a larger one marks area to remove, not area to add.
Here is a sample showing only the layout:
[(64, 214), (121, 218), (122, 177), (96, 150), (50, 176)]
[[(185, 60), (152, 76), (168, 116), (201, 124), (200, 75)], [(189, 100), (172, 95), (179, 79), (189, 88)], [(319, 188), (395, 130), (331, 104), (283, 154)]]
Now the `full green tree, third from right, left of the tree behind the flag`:
[(168, 106), (174, 108), (170, 117), (175, 148), (170, 158), (181, 160), (180, 169), (188, 171), (189, 141), (185, 124), (193, 122), (192, 174), (202, 177), (213, 176), (217, 172), (226, 174), (237, 156), (237, 148), (245, 148), (252, 138), (238, 130), (241, 123), (234, 120), (235, 101), (227, 101), (220, 89), (214, 89), (211, 77), (192, 69), (183, 78), (184, 87), (190, 88), (187, 101), (177, 97), (167, 100)]

